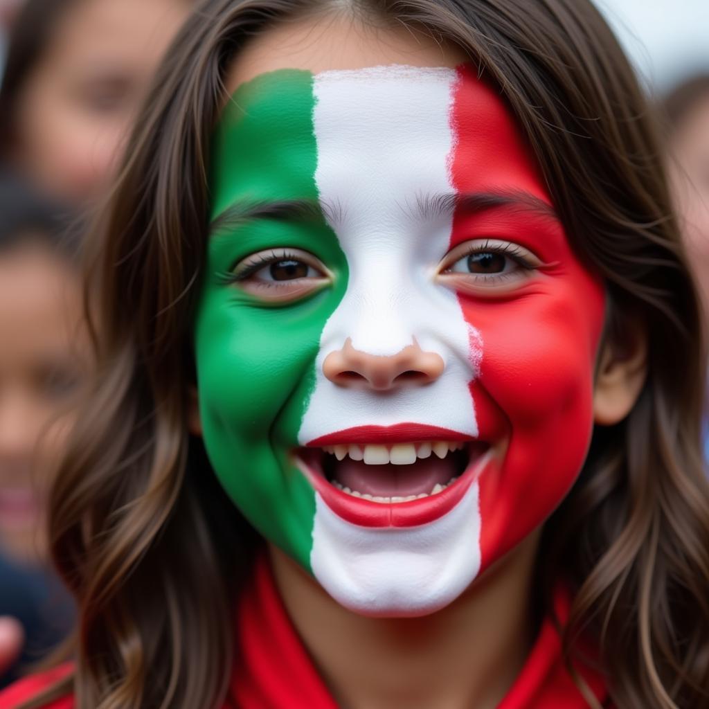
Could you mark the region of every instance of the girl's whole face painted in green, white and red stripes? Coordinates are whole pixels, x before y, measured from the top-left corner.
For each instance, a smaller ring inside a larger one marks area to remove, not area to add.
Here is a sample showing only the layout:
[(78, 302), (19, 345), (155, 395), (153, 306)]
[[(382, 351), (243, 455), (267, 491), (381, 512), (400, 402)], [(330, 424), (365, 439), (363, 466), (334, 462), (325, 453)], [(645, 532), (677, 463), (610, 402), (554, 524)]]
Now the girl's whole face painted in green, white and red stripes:
[(456, 52), (305, 22), (229, 80), (195, 330), (211, 462), (342, 605), (430, 613), (574, 483), (601, 283)]

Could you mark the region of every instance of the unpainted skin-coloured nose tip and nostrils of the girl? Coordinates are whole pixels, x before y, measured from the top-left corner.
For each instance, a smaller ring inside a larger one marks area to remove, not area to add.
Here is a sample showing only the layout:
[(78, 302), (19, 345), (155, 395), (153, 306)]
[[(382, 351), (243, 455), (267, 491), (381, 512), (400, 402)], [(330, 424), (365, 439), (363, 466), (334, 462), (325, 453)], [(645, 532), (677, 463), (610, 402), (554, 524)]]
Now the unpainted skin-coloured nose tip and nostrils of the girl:
[(379, 356), (355, 350), (348, 337), (342, 350), (330, 352), (323, 362), (323, 374), (335, 384), (376, 391), (432, 384), (444, 369), (440, 354), (424, 352), (415, 340), (396, 354)]

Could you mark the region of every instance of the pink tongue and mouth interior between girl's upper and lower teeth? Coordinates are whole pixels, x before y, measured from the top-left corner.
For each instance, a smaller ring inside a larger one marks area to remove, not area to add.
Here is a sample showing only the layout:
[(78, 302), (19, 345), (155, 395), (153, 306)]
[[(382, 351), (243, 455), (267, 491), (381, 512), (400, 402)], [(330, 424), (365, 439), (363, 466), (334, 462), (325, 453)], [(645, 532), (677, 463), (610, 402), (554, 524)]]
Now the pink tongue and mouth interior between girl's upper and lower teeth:
[(431, 456), (411, 465), (367, 465), (351, 458), (337, 463), (333, 478), (342, 486), (379, 497), (408, 497), (430, 493), (435, 484), (445, 485), (456, 474), (452, 455)]

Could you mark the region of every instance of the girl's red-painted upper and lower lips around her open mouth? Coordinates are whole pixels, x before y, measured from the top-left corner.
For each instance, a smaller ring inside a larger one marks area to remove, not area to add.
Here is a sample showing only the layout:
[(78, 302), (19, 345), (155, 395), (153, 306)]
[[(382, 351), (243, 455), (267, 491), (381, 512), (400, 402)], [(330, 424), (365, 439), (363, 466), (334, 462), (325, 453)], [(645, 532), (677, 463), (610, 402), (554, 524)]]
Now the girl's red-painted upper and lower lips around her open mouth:
[(409, 502), (381, 503), (353, 497), (331, 485), (320, 469), (314, 456), (308, 450), (325, 445), (345, 445), (349, 443), (394, 444), (425, 440), (463, 440), (476, 442), (461, 432), (403, 423), (396, 426), (359, 426), (328, 434), (308, 443), (306, 450), (294, 456), (294, 462), (310, 482), (325, 504), (343, 520), (359, 527), (419, 527), (430, 524), (447, 514), (462, 500), (471, 484), (479, 478), (492, 460), (491, 449), (476, 458), (460, 474), (457, 481), (442, 492)]

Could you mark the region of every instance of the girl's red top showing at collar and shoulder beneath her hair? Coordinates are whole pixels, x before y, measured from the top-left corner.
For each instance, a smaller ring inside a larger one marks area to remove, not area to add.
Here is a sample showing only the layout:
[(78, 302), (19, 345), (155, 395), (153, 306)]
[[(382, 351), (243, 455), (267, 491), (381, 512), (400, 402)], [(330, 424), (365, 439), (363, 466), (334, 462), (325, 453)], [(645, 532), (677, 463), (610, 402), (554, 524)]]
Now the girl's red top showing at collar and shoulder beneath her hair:
[[(286, 615), (265, 559), (257, 564), (253, 578), (239, 608), (241, 661), (233, 671), (224, 709), (337, 709)], [(568, 606), (566, 594), (557, 594), (557, 617), (566, 618)], [(601, 676), (578, 669), (603, 704), (607, 693)], [(19, 681), (0, 693), (0, 709), (14, 709), (69, 671), (70, 666), (63, 666)], [(559, 633), (547, 618), (525, 666), (498, 709), (587, 707), (566, 670)], [(45, 709), (74, 709), (74, 700), (67, 696), (45, 705)]]

